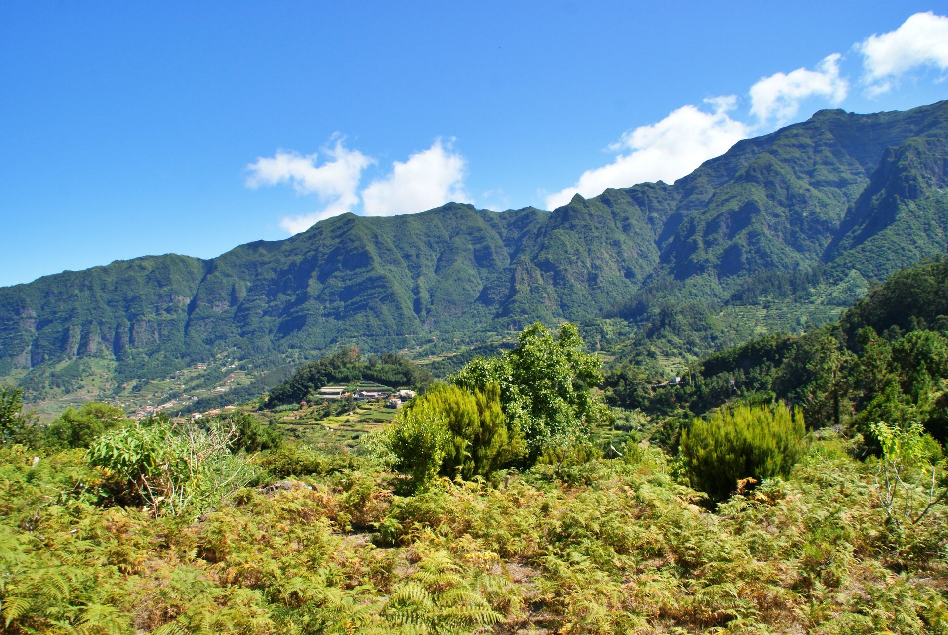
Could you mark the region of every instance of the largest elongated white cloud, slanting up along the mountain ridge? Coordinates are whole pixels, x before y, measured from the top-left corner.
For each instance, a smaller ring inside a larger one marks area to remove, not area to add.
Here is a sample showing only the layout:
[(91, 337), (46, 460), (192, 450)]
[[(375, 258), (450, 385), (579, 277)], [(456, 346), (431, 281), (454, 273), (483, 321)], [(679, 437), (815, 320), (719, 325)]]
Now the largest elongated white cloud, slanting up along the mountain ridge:
[(747, 137), (749, 128), (727, 114), (737, 104), (736, 97), (704, 102), (713, 107), (711, 112), (684, 105), (662, 121), (624, 134), (609, 149), (628, 149), (629, 154), (619, 155), (608, 165), (587, 170), (573, 187), (546, 196), (546, 208), (552, 210), (565, 205), (576, 193), (596, 196), (610, 187), (629, 187), (656, 180), (673, 182)]

